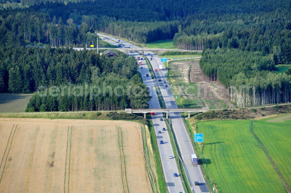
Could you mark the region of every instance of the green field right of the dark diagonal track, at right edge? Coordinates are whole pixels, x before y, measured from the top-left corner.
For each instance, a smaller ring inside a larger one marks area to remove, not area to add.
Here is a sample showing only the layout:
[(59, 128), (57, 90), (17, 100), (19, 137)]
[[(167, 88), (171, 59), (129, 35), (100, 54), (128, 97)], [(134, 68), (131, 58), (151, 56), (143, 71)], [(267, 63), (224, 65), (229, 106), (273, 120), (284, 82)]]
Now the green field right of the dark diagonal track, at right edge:
[[(282, 122), (279, 122), (278, 118), (281, 118)], [(278, 118), (274, 118), (274, 122), (271, 122), (272, 119), (256, 121), (253, 129), (291, 187), (291, 116)]]

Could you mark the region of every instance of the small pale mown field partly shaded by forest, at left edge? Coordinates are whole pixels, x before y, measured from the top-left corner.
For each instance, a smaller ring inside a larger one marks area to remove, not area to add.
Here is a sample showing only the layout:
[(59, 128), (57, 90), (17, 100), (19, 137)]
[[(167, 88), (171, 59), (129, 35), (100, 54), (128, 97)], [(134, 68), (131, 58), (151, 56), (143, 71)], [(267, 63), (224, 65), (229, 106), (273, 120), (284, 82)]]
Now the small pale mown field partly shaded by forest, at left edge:
[(0, 113), (24, 112), (32, 95), (0, 93)]

